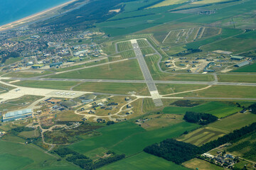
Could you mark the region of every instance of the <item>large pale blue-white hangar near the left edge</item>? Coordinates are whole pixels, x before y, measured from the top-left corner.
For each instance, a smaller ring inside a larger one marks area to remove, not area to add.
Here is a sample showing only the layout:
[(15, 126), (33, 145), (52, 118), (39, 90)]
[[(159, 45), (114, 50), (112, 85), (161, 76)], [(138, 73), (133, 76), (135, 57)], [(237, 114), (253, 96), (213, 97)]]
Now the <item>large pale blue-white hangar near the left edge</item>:
[(2, 121), (6, 122), (6, 121), (21, 119), (21, 118), (28, 118), (31, 116), (32, 116), (31, 109), (12, 111), (12, 112), (9, 112), (9, 113), (6, 113), (5, 115), (3, 115)]

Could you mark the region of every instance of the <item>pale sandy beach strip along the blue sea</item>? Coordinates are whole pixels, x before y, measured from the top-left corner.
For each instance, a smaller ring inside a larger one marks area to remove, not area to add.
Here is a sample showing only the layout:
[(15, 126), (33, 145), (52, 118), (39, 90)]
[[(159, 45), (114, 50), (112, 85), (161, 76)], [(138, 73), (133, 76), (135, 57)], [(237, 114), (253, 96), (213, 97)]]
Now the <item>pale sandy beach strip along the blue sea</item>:
[(0, 31), (9, 30), (11, 28), (16, 28), (18, 26), (23, 25), (24, 23), (30, 23), (32, 21), (36, 21), (36, 20), (38, 20), (38, 18), (44, 17), (46, 15), (50, 16), (50, 13), (54, 13), (59, 8), (63, 8), (64, 6), (67, 6), (68, 4), (71, 4), (71, 3), (75, 2), (75, 1), (78, 1), (78, 0), (70, 0), (68, 2), (65, 2), (64, 4), (60, 4), (58, 6), (54, 6), (52, 8), (48, 8), (48, 9), (46, 9), (44, 11), (35, 13), (35, 14), (31, 15), (31, 16), (27, 16), (25, 18), (21, 18), (21, 19), (19, 19), (17, 21), (11, 22), (11, 23), (6, 23), (5, 25), (0, 26)]

